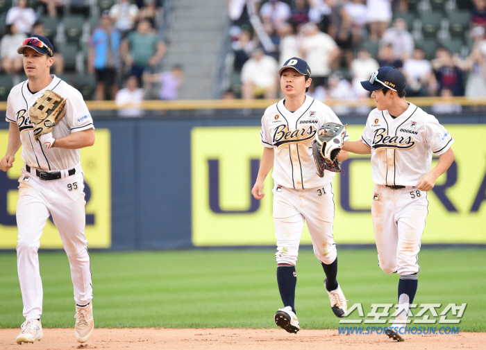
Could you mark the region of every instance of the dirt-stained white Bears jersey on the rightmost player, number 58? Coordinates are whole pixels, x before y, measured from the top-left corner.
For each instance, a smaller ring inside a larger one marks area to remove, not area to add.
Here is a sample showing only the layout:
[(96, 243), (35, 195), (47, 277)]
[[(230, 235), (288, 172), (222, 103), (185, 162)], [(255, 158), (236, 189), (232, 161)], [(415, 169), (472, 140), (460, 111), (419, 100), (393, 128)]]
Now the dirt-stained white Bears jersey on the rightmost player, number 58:
[(371, 147), (373, 182), (388, 186), (416, 186), (430, 172), (432, 155), (454, 142), (435, 116), (412, 103), (396, 119), (387, 110), (372, 110), (361, 140)]

